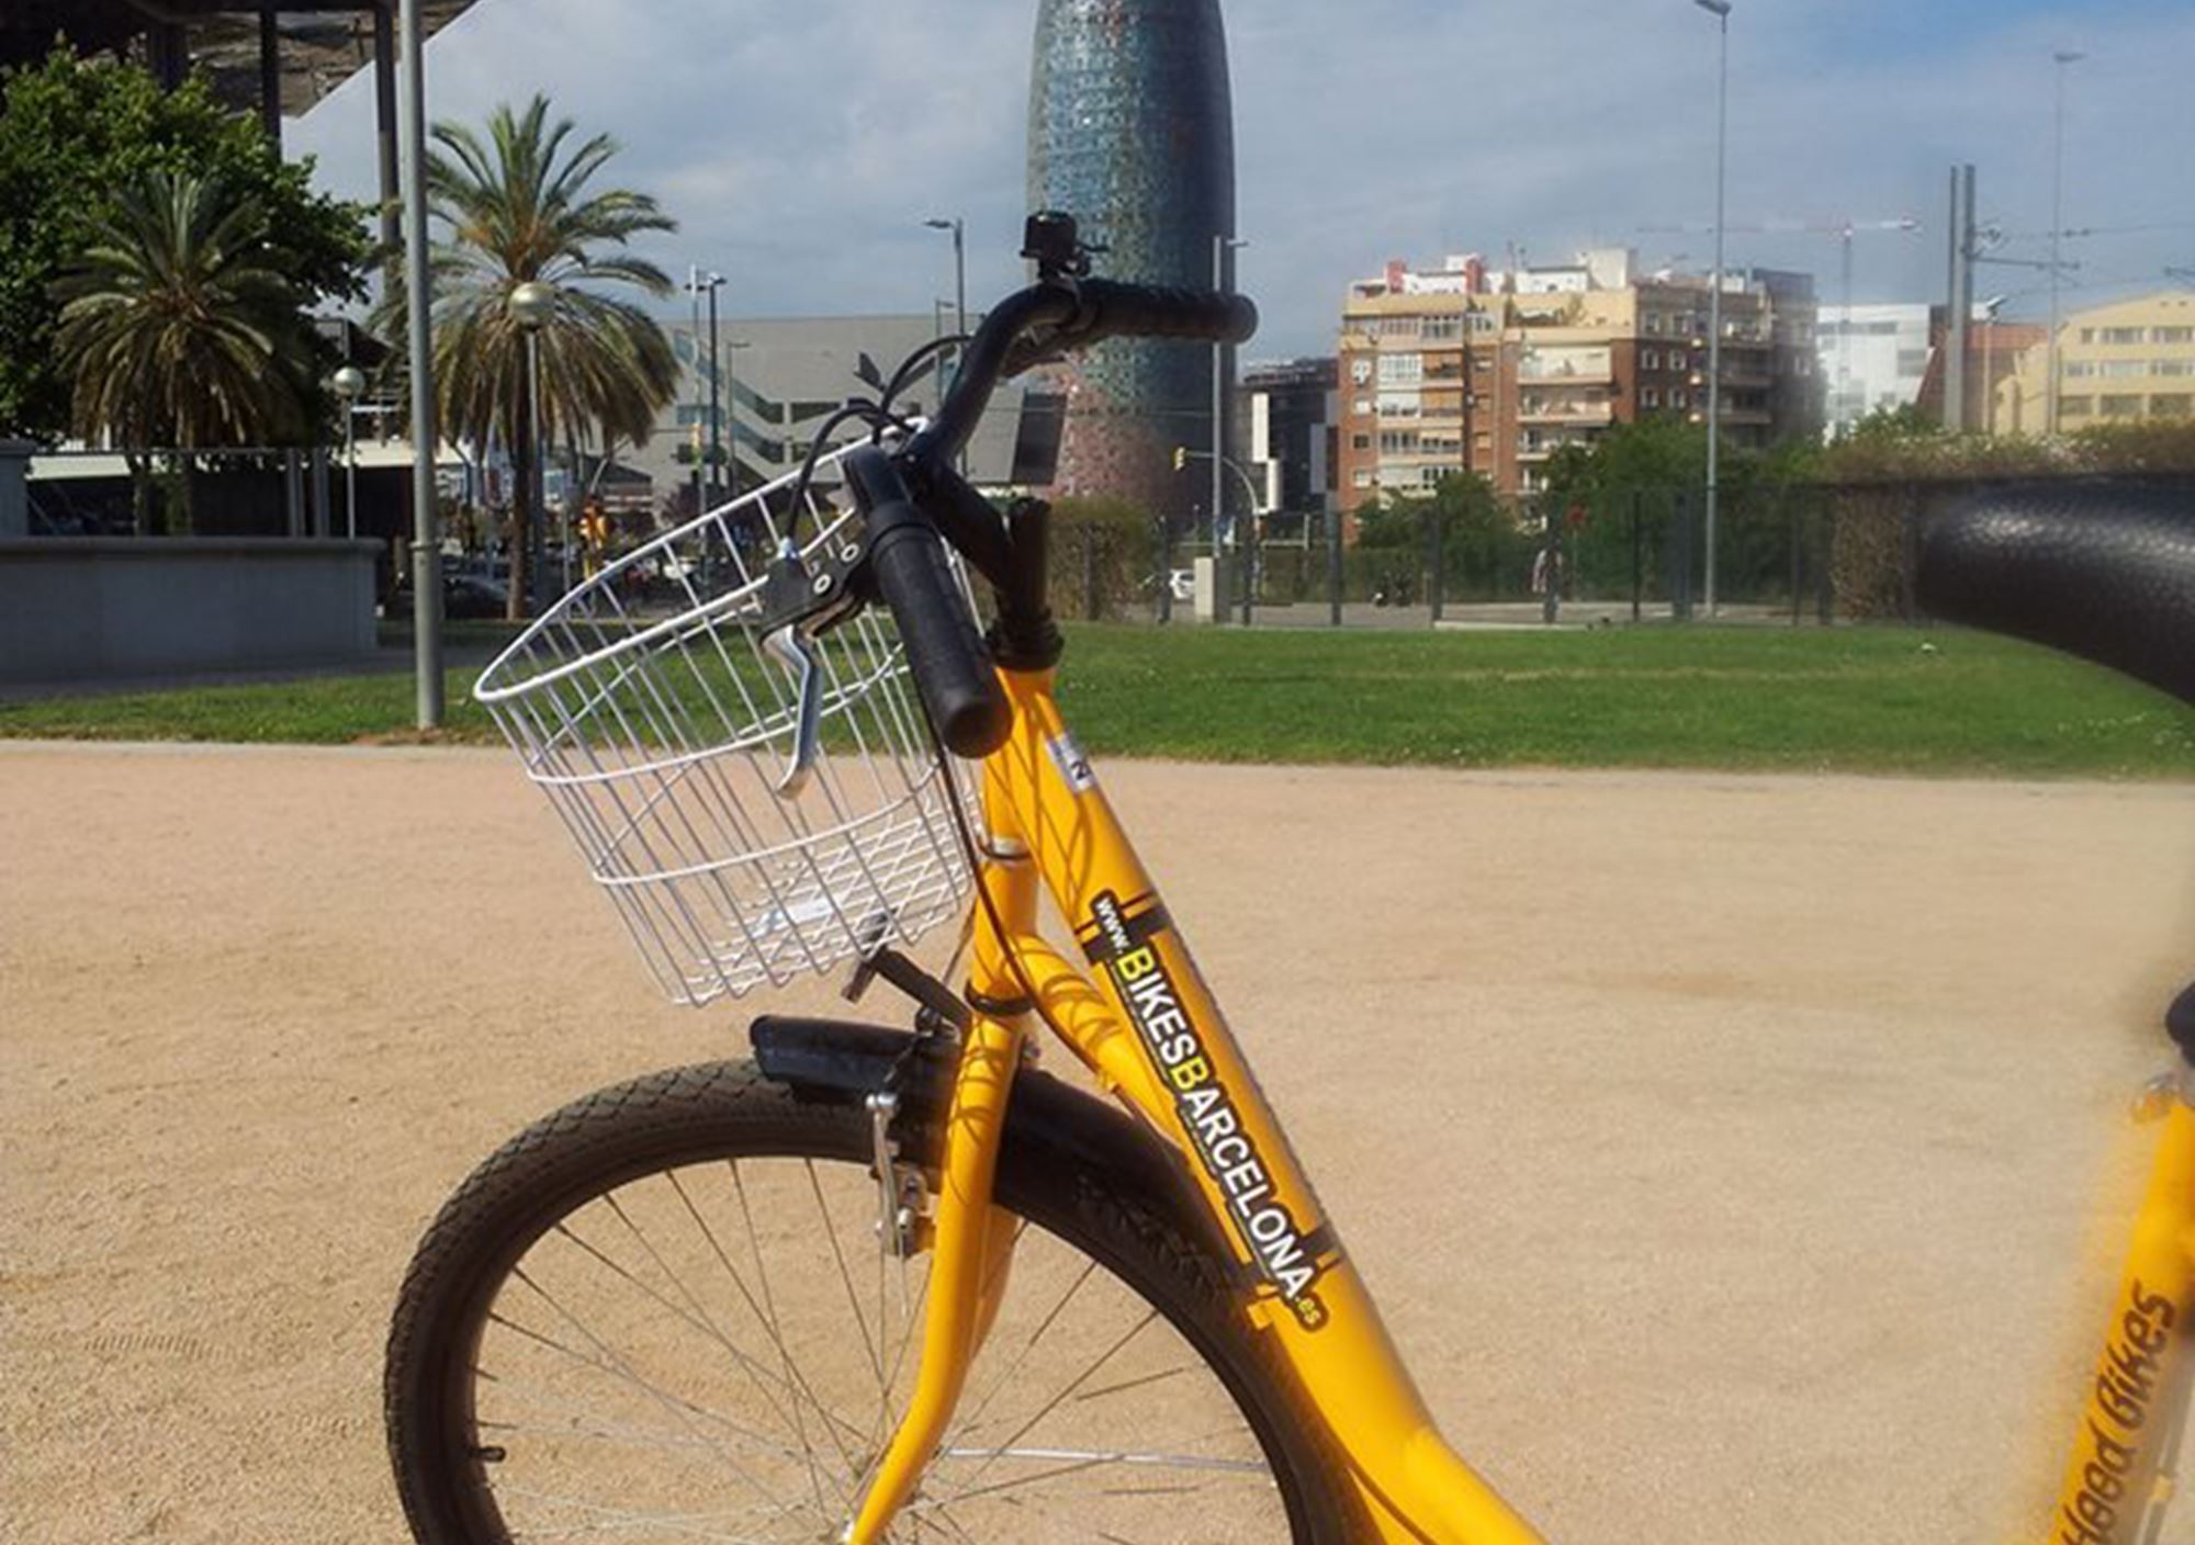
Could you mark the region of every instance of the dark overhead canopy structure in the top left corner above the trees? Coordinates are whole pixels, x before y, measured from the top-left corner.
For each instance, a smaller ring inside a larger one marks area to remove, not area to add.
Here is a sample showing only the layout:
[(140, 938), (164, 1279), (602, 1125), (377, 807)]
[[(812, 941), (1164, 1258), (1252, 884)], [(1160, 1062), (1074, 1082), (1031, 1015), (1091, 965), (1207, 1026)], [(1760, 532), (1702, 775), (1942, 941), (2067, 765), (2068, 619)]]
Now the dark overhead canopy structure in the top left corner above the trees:
[[(472, 0), (419, 0), (432, 37)], [(77, 53), (134, 57), (169, 83), (193, 66), (237, 108), (294, 119), (389, 50), (395, 0), (7, 0), (0, 68)], [(272, 86), (272, 90), (268, 90)]]

